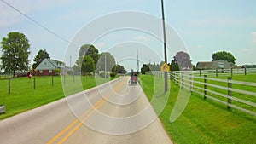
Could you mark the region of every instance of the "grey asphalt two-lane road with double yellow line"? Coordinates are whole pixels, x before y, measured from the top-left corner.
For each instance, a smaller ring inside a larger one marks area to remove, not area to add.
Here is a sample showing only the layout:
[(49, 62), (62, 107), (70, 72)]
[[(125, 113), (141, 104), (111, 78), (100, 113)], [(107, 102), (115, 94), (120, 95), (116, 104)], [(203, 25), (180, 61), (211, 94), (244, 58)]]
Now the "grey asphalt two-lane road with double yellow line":
[(0, 121), (1, 144), (172, 143), (129, 77)]

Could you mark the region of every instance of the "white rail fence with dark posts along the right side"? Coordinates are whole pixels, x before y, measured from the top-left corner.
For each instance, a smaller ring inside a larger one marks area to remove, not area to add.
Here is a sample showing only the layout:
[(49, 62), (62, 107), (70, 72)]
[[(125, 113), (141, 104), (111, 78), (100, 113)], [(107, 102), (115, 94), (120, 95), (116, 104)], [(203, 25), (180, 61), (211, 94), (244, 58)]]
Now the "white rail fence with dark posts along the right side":
[[(228, 108), (232, 107), (256, 116), (256, 83), (232, 80), (232, 77), (227, 79), (208, 78), (207, 75), (200, 77), (195, 73), (170, 72), (170, 78), (182, 89), (189, 89), (191, 92), (203, 95), (205, 99), (208, 98), (227, 105)], [(236, 88), (233, 87), (234, 85)], [(249, 87), (249, 90), (242, 89), (244, 87)]]

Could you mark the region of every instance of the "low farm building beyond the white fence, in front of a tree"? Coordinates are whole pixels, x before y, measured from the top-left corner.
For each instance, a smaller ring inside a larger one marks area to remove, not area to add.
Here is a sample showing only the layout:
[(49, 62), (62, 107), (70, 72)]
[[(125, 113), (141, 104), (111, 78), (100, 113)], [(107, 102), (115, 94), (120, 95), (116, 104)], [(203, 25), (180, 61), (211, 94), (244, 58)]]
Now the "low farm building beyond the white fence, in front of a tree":
[(225, 60), (216, 60), (211, 62), (197, 62), (196, 68), (199, 70), (211, 70), (211, 69), (230, 69), (235, 65), (232, 62)]

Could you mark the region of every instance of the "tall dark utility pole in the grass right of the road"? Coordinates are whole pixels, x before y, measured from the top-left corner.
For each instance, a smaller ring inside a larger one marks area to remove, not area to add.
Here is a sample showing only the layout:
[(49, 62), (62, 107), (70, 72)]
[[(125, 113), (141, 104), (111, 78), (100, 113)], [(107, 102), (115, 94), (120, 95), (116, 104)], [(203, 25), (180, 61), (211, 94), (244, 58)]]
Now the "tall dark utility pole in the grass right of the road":
[[(165, 63), (167, 65), (167, 52), (166, 52), (166, 22), (165, 22), (165, 9), (164, 9), (164, 0), (161, 0), (162, 6), (162, 21), (163, 21), (163, 35), (164, 35), (164, 53), (165, 53)], [(167, 71), (165, 71), (165, 92), (168, 91), (168, 76)]]

